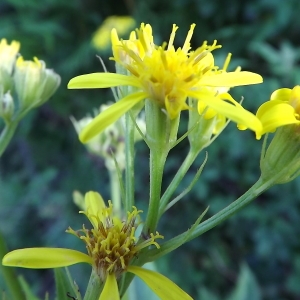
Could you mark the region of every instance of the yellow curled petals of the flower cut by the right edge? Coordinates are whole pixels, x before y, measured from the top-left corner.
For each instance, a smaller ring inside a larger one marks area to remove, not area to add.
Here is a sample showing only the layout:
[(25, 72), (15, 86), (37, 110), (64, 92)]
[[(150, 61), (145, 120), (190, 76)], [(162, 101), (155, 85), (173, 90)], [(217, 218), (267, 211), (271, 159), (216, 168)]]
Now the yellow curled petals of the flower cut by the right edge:
[(263, 125), (261, 135), (284, 125), (300, 124), (300, 86), (274, 91), (270, 101), (262, 104), (256, 115)]

